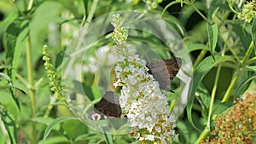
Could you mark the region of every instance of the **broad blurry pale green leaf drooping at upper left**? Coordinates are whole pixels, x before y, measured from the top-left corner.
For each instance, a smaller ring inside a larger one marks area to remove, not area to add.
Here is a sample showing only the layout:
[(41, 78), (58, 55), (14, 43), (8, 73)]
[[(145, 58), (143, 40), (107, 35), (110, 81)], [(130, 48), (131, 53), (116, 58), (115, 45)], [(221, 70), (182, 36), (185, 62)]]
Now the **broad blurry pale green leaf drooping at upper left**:
[[(32, 14), (32, 20), (29, 23), (31, 47), (32, 47), (32, 65), (37, 65), (42, 56), (42, 45), (45, 43), (46, 36), (49, 34), (51, 23), (61, 24), (64, 19), (60, 16), (61, 3), (57, 1), (42, 1)], [(75, 25), (75, 23), (73, 23)], [(59, 51), (59, 49), (54, 49)]]

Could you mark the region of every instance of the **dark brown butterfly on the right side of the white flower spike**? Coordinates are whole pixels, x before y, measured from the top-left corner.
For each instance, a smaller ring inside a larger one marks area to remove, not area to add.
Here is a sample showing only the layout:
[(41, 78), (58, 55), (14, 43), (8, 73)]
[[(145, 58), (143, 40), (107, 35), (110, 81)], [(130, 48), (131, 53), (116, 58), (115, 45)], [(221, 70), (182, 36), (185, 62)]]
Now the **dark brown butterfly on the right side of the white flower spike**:
[(148, 73), (152, 74), (154, 79), (159, 82), (160, 89), (170, 91), (170, 83), (177, 75), (182, 60), (172, 58), (168, 60), (155, 60), (147, 63)]

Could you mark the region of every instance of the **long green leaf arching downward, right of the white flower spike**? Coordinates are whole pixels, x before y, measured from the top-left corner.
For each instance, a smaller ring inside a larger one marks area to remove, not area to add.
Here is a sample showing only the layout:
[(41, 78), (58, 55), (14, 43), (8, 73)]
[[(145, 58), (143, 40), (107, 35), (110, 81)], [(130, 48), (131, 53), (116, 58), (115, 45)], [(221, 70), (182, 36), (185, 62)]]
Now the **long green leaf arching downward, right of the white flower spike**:
[[(190, 82), (189, 86), (189, 101), (187, 105), (187, 114), (189, 123), (195, 127), (192, 119), (192, 107), (195, 99), (195, 92), (197, 91), (199, 85), (201, 84), (202, 79), (205, 77), (207, 72), (209, 72), (213, 66), (218, 65), (219, 63), (223, 63), (225, 61), (235, 61), (231, 56), (221, 56), (215, 55), (215, 61), (211, 56), (208, 56), (205, 60), (202, 60), (200, 65), (196, 68), (193, 78)], [(196, 127), (195, 127), (196, 128)]]

